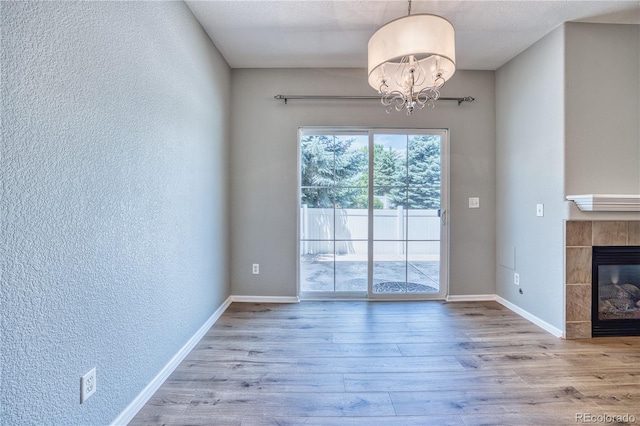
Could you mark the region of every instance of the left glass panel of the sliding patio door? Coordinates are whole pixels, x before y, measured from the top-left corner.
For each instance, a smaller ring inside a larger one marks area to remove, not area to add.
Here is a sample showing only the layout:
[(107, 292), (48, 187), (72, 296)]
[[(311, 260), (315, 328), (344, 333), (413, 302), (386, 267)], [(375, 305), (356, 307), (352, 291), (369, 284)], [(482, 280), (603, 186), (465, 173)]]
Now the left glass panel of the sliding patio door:
[(368, 145), (366, 132), (300, 132), (301, 293), (366, 294)]

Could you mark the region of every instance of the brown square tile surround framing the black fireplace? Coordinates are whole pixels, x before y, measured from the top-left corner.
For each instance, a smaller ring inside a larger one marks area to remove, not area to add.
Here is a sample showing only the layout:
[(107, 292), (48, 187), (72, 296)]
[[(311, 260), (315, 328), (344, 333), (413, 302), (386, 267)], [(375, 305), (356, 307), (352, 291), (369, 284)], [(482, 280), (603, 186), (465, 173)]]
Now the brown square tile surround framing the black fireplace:
[(565, 227), (565, 337), (591, 337), (593, 246), (640, 246), (640, 221), (569, 220)]

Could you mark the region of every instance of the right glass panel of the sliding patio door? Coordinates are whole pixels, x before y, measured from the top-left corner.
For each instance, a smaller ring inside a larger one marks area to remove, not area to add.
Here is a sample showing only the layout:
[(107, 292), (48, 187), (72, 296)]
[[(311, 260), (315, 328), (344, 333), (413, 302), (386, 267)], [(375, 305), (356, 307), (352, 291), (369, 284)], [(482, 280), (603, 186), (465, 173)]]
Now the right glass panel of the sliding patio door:
[[(441, 142), (439, 134), (373, 135), (373, 194), (381, 203), (373, 206), (372, 295), (440, 293)], [(393, 260), (385, 258), (391, 247)]]

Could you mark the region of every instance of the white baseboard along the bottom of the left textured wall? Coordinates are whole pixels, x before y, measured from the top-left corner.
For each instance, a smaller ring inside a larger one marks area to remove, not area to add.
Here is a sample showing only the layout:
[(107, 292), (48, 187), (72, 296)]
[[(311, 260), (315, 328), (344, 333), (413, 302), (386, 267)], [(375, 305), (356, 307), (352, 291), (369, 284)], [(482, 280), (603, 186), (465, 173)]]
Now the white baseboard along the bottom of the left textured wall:
[(191, 352), (191, 350), (198, 344), (200, 339), (209, 331), (213, 324), (222, 316), (224, 311), (229, 307), (232, 302), (232, 296), (229, 296), (222, 305), (216, 309), (216, 311), (209, 317), (202, 327), (196, 331), (196, 333), (185, 343), (185, 345), (176, 353), (173, 358), (164, 366), (164, 368), (151, 380), (151, 382), (134, 398), (133, 401), (127, 406), (127, 408), (120, 413), (118, 417), (111, 423), (112, 426), (126, 425), (129, 423), (138, 411), (144, 406), (144, 404), (151, 399), (153, 394), (162, 386), (165, 380), (173, 373), (178, 365), (184, 360), (184, 358)]

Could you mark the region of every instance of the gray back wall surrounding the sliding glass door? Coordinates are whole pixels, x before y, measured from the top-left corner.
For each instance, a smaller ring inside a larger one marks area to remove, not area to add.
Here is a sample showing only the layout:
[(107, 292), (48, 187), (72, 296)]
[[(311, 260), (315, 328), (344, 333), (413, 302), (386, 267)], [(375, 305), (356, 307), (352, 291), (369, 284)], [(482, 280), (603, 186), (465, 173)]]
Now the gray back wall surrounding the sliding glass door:
[[(296, 296), (299, 126), (449, 128), (450, 293), (495, 293), (494, 73), (458, 71), (443, 96), (474, 96), (458, 107), (407, 117), (375, 101), (297, 101), (277, 94), (374, 95), (361, 69), (235, 69), (231, 112), (231, 283), (235, 295)], [(481, 208), (468, 209), (479, 196)], [(251, 264), (260, 264), (260, 275)]]

